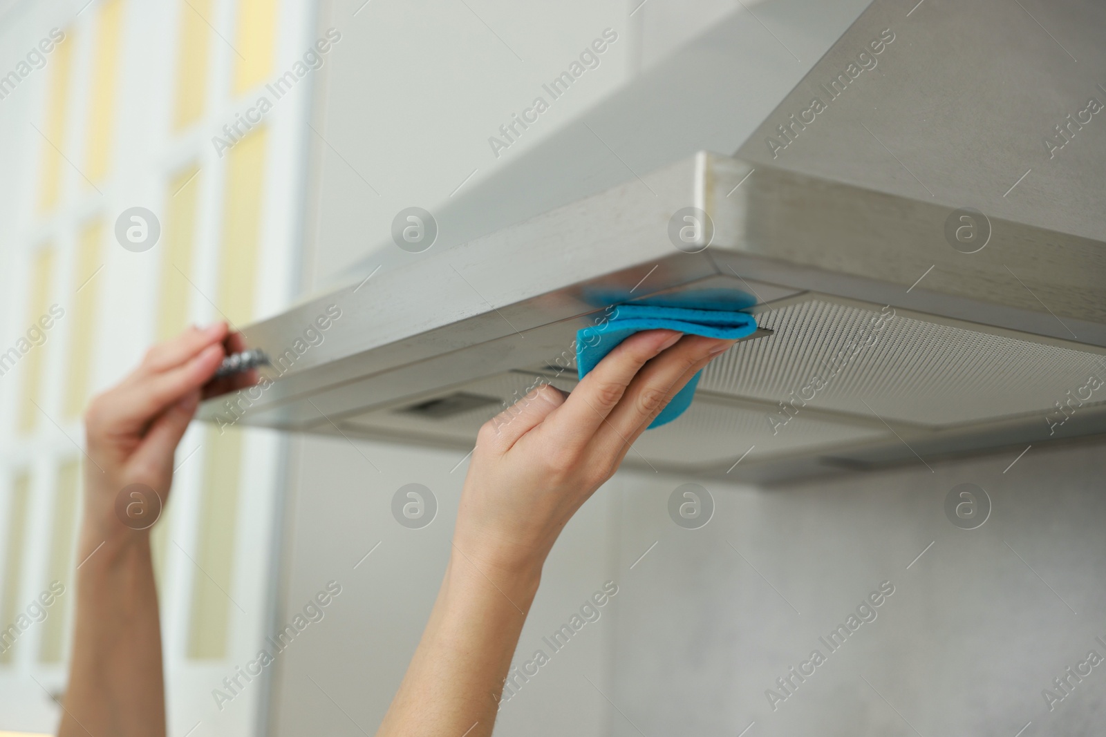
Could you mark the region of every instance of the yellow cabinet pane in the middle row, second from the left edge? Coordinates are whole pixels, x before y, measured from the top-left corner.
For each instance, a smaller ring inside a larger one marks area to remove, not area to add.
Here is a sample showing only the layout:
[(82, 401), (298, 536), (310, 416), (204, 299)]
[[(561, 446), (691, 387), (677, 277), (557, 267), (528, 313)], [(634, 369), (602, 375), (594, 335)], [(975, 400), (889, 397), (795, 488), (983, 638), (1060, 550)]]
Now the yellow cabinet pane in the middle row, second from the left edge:
[(96, 305), (103, 274), (97, 273), (103, 261), (104, 221), (93, 220), (81, 229), (76, 245), (76, 271), (73, 278), (75, 294), (70, 314), (70, 350), (65, 359), (65, 418), (74, 419), (84, 412), (88, 401), (88, 385), (94, 365), (96, 336)]

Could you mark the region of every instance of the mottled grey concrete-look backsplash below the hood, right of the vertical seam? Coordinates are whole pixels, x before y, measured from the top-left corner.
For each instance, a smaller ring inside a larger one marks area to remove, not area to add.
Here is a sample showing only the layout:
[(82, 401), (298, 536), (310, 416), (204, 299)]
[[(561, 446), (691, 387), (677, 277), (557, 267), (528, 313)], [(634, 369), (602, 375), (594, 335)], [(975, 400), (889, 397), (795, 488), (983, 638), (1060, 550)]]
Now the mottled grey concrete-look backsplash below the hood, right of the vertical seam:
[[(1018, 451), (785, 491), (707, 484), (717, 512), (697, 530), (666, 512), (687, 480), (627, 480), (619, 569), (659, 543), (624, 576), (613, 699), (626, 718), (608, 734), (637, 735), (629, 720), (646, 735), (753, 722), (750, 737), (1100, 734), (1106, 663), (1051, 713), (1041, 692), (1089, 650), (1106, 657), (1104, 451), (1034, 446), (1005, 472)], [(964, 482), (992, 502), (971, 530), (943, 512)], [(818, 638), (881, 581), (895, 593), (831, 653)], [(814, 649), (825, 663), (773, 710), (765, 691)]]

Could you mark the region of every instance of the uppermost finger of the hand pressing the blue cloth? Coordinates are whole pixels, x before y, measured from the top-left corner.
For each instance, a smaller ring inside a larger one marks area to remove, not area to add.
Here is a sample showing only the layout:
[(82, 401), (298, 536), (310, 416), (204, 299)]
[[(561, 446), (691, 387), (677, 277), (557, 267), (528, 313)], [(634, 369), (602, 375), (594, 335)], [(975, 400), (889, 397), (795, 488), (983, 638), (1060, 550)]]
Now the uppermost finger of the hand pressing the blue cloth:
[[(654, 356), (680, 339), (672, 330), (647, 330), (626, 338), (581, 380), (546, 425), (560, 442), (587, 444), (606, 421), (638, 370)], [(672, 381), (676, 377), (672, 377)], [(666, 386), (665, 389), (668, 387)]]

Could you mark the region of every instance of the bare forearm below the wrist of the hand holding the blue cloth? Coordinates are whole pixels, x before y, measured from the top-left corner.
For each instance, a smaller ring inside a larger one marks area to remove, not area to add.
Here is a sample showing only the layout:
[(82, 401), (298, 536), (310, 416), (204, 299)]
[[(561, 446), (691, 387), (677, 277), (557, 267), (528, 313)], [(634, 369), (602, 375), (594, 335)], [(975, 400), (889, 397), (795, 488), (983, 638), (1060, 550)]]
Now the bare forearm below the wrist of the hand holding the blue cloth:
[(455, 547), (426, 631), (377, 737), (491, 735), (540, 575), (540, 565), (497, 567)]

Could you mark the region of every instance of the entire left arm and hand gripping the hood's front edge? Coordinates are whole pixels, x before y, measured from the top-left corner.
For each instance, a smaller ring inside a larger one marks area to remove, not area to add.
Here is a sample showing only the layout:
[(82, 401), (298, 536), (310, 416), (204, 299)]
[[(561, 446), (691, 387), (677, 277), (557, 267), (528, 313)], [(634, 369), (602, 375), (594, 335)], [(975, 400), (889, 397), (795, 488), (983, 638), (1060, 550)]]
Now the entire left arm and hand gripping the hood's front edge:
[[(60, 737), (165, 735), (148, 530), (155, 519), (116, 516), (116, 499), (142, 484), (165, 504), (174, 453), (199, 400), (257, 380), (251, 371), (211, 381), (227, 351), (241, 349), (241, 337), (228, 335), (223, 323), (189, 328), (150, 348), (137, 369), (88, 406), (76, 627)], [(149, 514), (150, 499), (142, 502)]]

